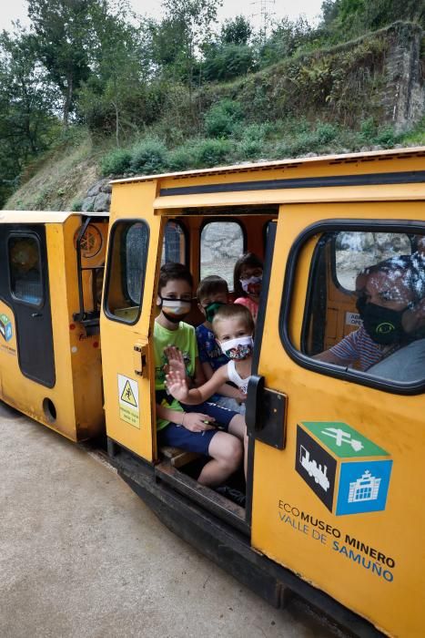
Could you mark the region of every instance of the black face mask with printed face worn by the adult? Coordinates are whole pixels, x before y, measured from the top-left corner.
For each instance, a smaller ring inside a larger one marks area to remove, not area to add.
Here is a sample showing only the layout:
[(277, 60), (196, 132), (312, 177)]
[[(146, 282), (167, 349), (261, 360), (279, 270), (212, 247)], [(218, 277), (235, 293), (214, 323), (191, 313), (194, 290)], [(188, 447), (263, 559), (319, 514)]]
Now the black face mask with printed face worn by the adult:
[(359, 297), (356, 306), (364, 329), (376, 344), (391, 345), (406, 340), (402, 316), (409, 306), (402, 310), (390, 310), (378, 304), (369, 304), (364, 296)]

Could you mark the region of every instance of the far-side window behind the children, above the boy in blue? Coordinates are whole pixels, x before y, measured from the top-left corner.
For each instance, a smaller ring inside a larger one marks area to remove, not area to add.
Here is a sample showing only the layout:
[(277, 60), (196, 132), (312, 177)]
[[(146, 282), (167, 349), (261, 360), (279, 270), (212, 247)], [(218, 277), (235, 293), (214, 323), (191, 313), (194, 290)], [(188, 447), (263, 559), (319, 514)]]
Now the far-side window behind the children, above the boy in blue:
[(233, 290), (235, 262), (245, 252), (245, 235), (238, 221), (207, 221), (201, 232), (200, 278), (218, 274)]

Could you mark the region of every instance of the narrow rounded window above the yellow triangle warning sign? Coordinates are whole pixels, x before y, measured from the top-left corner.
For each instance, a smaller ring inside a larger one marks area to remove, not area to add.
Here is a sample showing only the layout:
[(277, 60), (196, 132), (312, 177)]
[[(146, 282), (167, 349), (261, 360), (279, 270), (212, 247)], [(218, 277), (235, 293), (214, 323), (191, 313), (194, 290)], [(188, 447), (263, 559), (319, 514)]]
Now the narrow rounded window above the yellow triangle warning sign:
[(148, 238), (144, 221), (118, 221), (111, 231), (106, 313), (128, 324), (135, 324), (140, 314)]

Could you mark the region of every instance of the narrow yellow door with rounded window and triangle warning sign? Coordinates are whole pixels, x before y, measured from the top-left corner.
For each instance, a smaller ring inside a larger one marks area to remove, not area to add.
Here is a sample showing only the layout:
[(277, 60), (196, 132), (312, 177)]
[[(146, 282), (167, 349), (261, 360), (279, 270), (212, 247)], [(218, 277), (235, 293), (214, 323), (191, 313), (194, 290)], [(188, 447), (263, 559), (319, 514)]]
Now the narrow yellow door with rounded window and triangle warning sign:
[(101, 314), (106, 434), (152, 460), (152, 344), (149, 341), (160, 217), (135, 214), (109, 231)]

